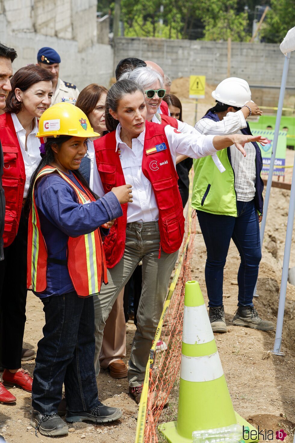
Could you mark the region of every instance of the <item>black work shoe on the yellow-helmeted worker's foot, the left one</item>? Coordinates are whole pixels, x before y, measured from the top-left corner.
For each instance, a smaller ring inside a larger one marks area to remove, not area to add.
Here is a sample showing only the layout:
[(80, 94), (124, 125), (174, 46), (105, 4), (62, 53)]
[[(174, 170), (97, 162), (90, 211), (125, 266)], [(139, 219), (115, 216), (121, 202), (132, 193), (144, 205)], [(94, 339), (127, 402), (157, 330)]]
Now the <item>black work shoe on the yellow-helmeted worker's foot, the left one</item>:
[(69, 428), (58, 414), (43, 415), (33, 409), (30, 424), (35, 428), (35, 435), (37, 435), (37, 431), (47, 437), (68, 435), (69, 433)]

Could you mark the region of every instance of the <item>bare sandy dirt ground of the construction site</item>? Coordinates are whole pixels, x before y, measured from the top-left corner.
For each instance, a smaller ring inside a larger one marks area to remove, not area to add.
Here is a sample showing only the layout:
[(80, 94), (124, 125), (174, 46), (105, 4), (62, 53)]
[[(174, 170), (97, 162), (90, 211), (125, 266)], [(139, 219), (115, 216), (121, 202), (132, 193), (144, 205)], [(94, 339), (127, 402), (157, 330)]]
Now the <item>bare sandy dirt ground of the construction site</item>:
[[(181, 79), (180, 79), (181, 80)], [(183, 86), (185, 87), (185, 86)], [(172, 84), (173, 92), (173, 84)], [(176, 92), (176, 91), (174, 91)], [(183, 94), (182, 97), (186, 97)], [(207, 88), (206, 99), (199, 104), (198, 117), (211, 105), (211, 91)], [(184, 102), (184, 121), (194, 124), (194, 104)], [(201, 102), (201, 101), (200, 101)], [(209, 106), (208, 106), (209, 104)], [(287, 151), (287, 164), (292, 164), (294, 151)], [(281, 265), (284, 256), (284, 242), (290, 191), (272, 188), (268, 220), (263, 245), (263, 258), (258, 278), (255, 306), (261, 317), (276, 321), (280, 293)], [(191, 262), (192, 277), (198, 280), (205, 302), (207, 292), (204, 280), (206, 249), (199, 226), (194, 236), (194, 255)], [(215, 334), (226, 381), (229, 386), (235, 410), (260, 429), (276, 431), (281, 427), (288, 433), (287, 443), (291, 443), (292, 429), (295, 427), (295, 287), (287, 285), (287, 300), (284, 317), (283, 345), (285, 356), (279, 357), (268, 352), (273, 349), (275, 332), (260, 332), (253, 329), (233, 326), (231, 320), (237, 305), (238, 252), (231, 244), (224, 273), (224, 305), (227, 334)], [(295, 229), (291, 251), (290, 268), (295, 266)], [(27, 299), (27, 323), (24, 346), (37, 349), (42, 337), (44, 315), (42, 303), (31, 292)], [(127, 324), (127, 357), (130, 352), (135, 326)], [(34, 361), (23, 364), (31, 373)], [(134, 442), (138, 406), (127, 394), (127, 380), (114, 380), (102, 370), (97, 378), (100, 400), (109, 406), (118, 406), (123, 417), (114, 424), (92, 425), (73, 424), (66, 437), (56, 437), (70, 443), (85, 439), (89, 443)], [(49, 442), (50, 438), (39, 435), (30, 427), (31, 396), (18, 388), (8, 388), (16, 396), (14, 404), (0, 404), (0, 435), (7, 442)], [(174, 419), (177, 412), (177, 399), (172, 398), (172, 409), (165, 408), (161, 420)], [(173, 407), (174, 404), (174, 407)], [(293, 429), (294, 431), (294, 429)]]

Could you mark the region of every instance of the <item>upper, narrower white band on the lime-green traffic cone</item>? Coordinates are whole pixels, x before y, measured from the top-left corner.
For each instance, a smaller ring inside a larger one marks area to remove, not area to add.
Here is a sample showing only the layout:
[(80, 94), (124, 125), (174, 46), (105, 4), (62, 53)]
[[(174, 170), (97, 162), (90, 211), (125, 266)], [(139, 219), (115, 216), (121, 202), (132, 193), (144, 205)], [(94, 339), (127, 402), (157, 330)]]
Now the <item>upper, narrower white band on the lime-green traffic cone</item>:
[(205, 304), (184, 306), (182, 341), (188, 345), (209, 343), (214, 340), (213, 331)]

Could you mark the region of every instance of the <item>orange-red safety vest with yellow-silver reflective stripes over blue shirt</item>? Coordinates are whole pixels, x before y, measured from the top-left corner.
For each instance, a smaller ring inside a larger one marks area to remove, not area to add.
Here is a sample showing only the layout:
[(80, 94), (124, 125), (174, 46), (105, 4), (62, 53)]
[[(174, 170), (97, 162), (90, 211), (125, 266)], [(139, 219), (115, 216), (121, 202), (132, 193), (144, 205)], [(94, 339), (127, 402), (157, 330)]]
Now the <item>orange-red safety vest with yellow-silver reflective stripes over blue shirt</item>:
[[(46, 174), (58, 174), (73, 188), (80, 204), (95, 201), (95, 198), (84, 189), (81, 191), (65, 174), (51, 166), (44, 167), (37, 175), (36, 181)], [(34, 188), (32, 191), (32, 207), (29, 217), (28, 252), (27, 252), (27, 288), (35, 292), (45, 291), (47, 271), (47, 248), (41, 232), (38, 210), (35, 203)], [(99, 229), (80, 235), (69, 237), (67, 266), (73, 287), (80, 297), (97, 294), (102, 282), (107, 283), (107, 265), (103, 252)]]

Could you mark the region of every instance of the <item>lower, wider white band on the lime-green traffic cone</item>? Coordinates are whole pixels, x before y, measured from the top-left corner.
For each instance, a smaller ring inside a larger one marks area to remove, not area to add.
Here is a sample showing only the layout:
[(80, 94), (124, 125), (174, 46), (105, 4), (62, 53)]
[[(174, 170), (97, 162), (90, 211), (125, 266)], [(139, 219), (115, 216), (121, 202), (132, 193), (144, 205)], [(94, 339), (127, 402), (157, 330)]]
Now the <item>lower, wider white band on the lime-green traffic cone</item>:
[(223, 375), (218, 351), (203, 357), (181, 355), (180, 378), (186, 381), (211, 381)]

